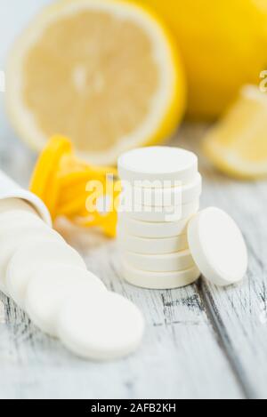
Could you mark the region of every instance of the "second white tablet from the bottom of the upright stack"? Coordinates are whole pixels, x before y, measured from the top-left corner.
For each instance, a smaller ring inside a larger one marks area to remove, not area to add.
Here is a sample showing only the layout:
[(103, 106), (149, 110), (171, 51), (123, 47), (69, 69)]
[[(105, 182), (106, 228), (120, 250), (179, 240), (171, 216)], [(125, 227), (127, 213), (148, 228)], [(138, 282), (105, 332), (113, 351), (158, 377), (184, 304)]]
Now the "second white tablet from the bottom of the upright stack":
[(142, 255), (142, 253), (122, 252), (123, 260), (134, 267), (150, 272), (172, 272), (195, 266), (190, 250), (164, 255)]

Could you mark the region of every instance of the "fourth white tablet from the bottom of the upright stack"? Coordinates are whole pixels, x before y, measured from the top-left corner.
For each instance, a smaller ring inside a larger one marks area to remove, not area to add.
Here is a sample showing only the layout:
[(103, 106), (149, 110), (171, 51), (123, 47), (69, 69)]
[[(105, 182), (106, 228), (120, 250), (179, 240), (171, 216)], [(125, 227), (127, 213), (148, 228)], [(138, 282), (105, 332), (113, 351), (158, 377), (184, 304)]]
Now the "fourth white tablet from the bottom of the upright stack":
[(125, 230), (126, 233), (137, 237), (176, 237), (187, 233), (189, 219), (181, 221), (138, 221), (127, 213), (120, 213), (118, 216), (117, 227)]

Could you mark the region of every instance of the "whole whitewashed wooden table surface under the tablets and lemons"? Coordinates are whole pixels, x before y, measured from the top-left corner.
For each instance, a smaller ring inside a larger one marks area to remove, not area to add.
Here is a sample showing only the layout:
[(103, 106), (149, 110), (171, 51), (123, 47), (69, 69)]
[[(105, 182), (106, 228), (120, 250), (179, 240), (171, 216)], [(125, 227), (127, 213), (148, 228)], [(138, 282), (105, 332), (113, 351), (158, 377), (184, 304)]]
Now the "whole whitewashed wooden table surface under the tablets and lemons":
[[(198, 151), (205, 126), (185, 126), (174, 144)], [(0, 168), (26, 185), (34, 163), (9, 134)], [(216, 205), (238, 221), (247, 240), (245, 281), (226, 289), (199, 279), (174, 291), (127, 285), (116, 242), (61, 227), (111, 291), (134, 301), (146, 318), (141, 349), (111, 363), (85, 362), (46, 337), (0, 295), (0, 398), (267, 397), (267, 187), (230, 180), (200, 161), (201, 206)]]

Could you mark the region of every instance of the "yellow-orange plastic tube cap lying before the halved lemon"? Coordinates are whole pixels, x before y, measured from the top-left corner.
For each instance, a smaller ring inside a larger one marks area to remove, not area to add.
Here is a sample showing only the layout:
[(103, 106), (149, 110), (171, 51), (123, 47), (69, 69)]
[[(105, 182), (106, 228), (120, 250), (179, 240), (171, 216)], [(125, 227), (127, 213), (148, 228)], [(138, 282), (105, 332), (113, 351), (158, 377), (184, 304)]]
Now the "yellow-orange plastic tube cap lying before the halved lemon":
[[(116, 236), (117, 196), (121, 192), (117, 170), (79, 160), (68, 138), (53, 136), (48, 140), (29, 189), (44, 201), (53, 220), (64, 216), (80, 226), (98, 226), (108, 237)], [(98, 201), (105, 198), (109, 198), (108, 210), (105, 205), (101, 213)]]

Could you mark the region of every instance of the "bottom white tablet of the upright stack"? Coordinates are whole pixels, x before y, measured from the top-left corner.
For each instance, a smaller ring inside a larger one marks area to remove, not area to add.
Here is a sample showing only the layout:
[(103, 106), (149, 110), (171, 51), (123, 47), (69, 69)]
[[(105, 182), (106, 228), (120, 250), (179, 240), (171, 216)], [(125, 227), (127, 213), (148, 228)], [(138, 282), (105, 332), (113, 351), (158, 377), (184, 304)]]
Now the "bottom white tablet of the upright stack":
[(129, 284), (151, 290), (181, 288), (194, 283), (200, 277), (197, 267), (174, 272), (150, 272), (123, 263), (122, 272), (125, 281)]

